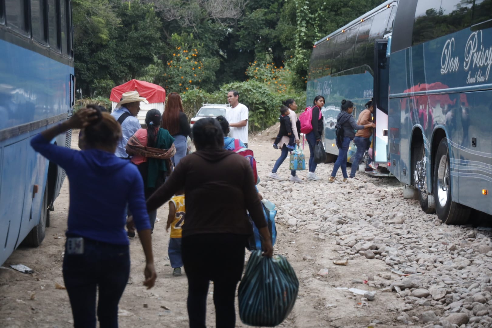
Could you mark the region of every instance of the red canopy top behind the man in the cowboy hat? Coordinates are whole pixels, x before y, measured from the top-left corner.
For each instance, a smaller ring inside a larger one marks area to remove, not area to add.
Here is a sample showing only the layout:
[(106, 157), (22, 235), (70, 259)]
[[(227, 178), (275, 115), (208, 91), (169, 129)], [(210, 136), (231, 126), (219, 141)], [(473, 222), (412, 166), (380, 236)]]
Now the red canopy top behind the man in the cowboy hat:
[(122, 94), (128, 91), (138, 91), (140, 96), (147, 98), (150, 104), (164, 102), (166, 100), (166, 90), (164, 88), (154, 83), (135, 79), (123, 83), (121, 86), (114, 87), (111, 90), (109, 100), (118, 103)]

